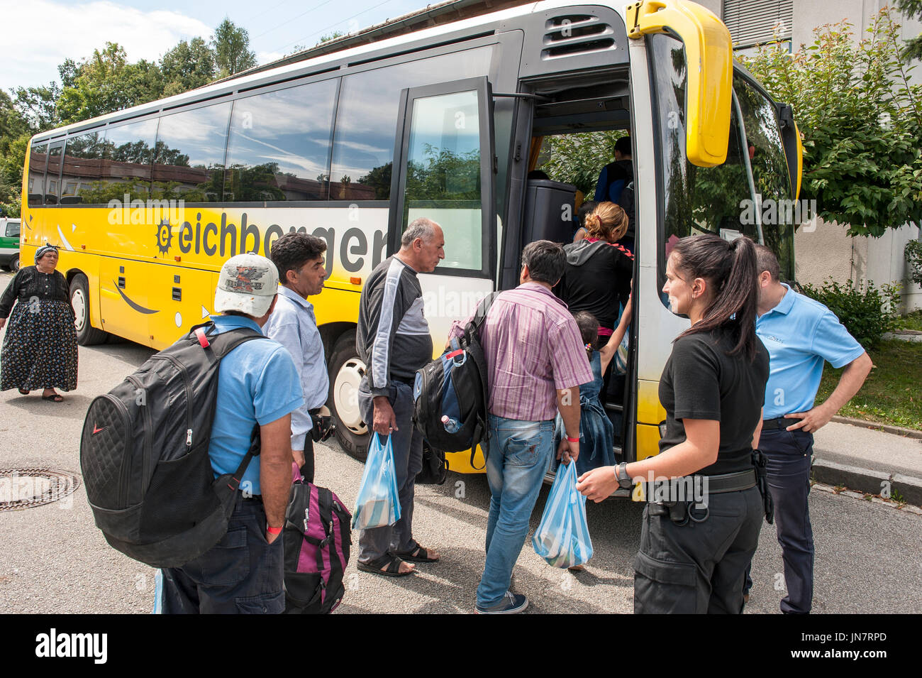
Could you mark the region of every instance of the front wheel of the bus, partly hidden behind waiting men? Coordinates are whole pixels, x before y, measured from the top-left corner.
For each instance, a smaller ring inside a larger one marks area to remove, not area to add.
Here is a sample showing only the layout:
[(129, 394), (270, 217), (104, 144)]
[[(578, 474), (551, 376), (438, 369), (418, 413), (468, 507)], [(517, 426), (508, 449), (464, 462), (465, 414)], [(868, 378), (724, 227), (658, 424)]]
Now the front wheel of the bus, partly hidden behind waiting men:
[(330, 394), (327, 402), (337, 423), (337, 440), (349, 457), (368, 457), (369, 428), (359, 412), (359, 381), (365, 363), (355, 348), (355, 330), (340, 335), (330, 353)]

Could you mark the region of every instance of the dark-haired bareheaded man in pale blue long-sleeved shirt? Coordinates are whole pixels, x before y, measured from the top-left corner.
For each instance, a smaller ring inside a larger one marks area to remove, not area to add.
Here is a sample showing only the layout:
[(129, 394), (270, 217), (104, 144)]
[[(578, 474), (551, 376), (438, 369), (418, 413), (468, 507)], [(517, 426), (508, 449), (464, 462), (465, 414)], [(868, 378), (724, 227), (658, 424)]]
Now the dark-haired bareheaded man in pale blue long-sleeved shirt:
[(291, 456), (301, 467), (301, 475), (313, 482), (313, 415), (326, 402), (329, 377), (320, 339), (312, 294), (324, 289), (326, 243), (306, 233), (287, 233), (272, 244), (272, 261), (278, 268), (278, 303), (263, 328), (266, 337), (275, 339), (291, 354), (301, 378), (304, 404), (291, 412)]

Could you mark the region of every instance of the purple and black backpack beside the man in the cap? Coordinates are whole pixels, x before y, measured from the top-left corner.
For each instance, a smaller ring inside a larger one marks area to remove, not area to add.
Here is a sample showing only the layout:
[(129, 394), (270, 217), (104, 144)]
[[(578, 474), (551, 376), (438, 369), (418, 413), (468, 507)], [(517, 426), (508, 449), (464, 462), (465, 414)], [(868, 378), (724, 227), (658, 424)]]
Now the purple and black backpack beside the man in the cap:
[(282, 533), (285, 613), (331, 613), (346, 593), (343, 575), (352, 544), (352, 517), (336, 494), (305, 482), (295, 464), (292, 472), (294, 484)]

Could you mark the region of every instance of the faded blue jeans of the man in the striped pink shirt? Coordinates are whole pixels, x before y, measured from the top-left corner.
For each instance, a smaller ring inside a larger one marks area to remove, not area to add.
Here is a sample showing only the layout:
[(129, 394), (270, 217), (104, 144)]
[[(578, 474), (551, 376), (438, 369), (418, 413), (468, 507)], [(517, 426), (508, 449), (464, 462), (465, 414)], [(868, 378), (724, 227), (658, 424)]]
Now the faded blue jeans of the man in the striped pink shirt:
[(509, 589), (513, 565), (522, 552), (528, 521), (554, 451), (554, 422), (524, 422), (491, 414), (490, 436), (490, 518), (487, 563), (477, 588), (480, 607), (496, 605)]

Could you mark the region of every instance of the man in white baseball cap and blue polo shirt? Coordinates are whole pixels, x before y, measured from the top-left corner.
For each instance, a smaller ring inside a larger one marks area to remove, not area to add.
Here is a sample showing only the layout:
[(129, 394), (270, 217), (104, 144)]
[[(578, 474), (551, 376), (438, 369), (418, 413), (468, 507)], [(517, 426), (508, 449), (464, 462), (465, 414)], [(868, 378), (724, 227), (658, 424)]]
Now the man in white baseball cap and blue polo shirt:
[[(276, 305), (278, 268), (265, 256), (232, 256), (218, 278), (218, 332), (261, 333)], [(291, 487), (290, 427), (301, 381), (274, 339), (252, 339), (220, 363), (208, 456), (215, 476), (237, 470), (259, 423), (261, 451), (243, 474), (227, 534), (183, 567), (163, 570), (164, 613), (281, 613), (282, 539)]]

